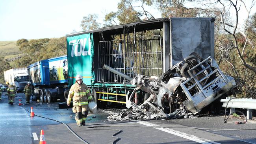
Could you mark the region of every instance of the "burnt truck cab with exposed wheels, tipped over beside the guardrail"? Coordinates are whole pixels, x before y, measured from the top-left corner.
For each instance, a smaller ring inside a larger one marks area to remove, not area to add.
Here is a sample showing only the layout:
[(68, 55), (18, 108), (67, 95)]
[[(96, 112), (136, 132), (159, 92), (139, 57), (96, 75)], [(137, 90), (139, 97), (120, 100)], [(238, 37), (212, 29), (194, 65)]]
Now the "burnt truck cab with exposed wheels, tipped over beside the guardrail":
[[(174, 65), (158, 82), (158, 109), (165, 113), (183, 109), (197, 114), (236, 87), (234, 78), (224, 75), (212, 57), (202, 59), (196, 53)], [(165, 102), (167, 99), (169, 102)]]

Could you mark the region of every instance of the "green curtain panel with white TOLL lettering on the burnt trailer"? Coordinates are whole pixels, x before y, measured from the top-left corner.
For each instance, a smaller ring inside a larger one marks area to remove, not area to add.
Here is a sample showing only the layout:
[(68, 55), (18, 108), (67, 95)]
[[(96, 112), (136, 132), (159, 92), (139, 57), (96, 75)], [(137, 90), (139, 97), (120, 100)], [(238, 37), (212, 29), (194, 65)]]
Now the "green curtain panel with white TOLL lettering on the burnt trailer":
[(67, 59), (69, 85), (75, 83), (77, 74), (83, 76), (83, 83), (91, 85), (95, 76), (93, 72), (94, 43), (93, 34), (67, 37)]

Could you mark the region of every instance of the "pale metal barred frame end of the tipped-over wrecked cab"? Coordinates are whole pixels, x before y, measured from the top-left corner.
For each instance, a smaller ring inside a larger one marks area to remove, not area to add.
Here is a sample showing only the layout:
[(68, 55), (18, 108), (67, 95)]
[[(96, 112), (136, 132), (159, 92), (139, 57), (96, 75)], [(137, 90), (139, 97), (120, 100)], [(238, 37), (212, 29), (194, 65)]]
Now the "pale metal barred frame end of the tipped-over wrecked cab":
[(224, 75), (210, 56), (188, 69), (187, 73), (189, 78), (180, 83), (180, 86), (187, 96), (183, 105), (193, 114), (200, 112), (236, 86), (234, 78)]

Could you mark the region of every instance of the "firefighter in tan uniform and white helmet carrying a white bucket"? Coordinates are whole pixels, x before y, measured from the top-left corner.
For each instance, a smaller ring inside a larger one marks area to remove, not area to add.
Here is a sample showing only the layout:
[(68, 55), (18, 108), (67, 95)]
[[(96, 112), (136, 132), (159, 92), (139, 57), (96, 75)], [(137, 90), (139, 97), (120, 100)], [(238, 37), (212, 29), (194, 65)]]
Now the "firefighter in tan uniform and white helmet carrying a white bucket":
[(76, 124), (78, 126), (85, 126), (85, 120), (88, 115), (88, 101), (93, 101), (90, 90), (83, 83), (83, 77), (79, 74), (76, 76), (76, 83), (71, 86), (69, 96), (67, 98), (67, 105), (70, 105), (73, 98), (73, 112), (76, 114)]

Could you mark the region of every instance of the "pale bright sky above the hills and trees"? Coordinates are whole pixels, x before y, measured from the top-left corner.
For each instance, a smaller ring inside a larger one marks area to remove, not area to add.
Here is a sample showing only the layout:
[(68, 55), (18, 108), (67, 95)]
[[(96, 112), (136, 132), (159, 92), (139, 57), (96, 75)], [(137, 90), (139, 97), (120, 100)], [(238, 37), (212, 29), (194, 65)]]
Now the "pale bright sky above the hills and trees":
[[(107, 13), (117, 11), (118, 2), (120, 0), (0, 0), (0, 41), (58, 38), (73, 30), (79, 32), (84, 16), (95, 13), (98, 22), (103, 24)], [(190, 6), (192, 4), (187, 7)], [(155, 18), (161, 17), (154, 7), (145, 9)], [(255, 9), (254, 6), (253, 13)]]

